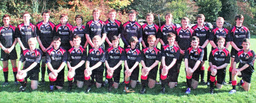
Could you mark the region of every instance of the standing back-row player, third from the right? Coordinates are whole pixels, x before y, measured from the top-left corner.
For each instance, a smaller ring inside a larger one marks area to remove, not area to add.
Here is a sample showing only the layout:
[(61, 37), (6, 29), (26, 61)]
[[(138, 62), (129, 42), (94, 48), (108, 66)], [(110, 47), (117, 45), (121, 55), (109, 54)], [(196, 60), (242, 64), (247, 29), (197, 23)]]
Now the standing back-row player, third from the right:
[(196, 20), (197, 23), (195, 26), (192, 26), (192, 29), (195, 31), (195, 35), (199, 38), (199, 46), (201, 46), (204, 49), (204, 58), (203, 58), (203, 62), (201, 64), (201, 83), (205, 83), (204, 82), (204, 62), (207, 60), (207, 45), (209, 43), (209, 33), (210, 30), (207, 26), (204, 26), (204, 14), (198, 14), (196, 16)]

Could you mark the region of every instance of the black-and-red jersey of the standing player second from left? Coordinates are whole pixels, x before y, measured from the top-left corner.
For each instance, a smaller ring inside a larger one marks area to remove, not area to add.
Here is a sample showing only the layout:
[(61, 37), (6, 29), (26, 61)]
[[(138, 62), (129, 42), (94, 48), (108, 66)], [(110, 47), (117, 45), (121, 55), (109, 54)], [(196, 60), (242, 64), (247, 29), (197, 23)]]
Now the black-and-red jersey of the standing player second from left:
[[(17, 26), (15, 30), (16, 37), (20, 38), (21, 43), (23, 46), (28, 49), (28, 40), (31, 37), (36, 37), (36, 26), (33, 25), (32, 23), (29, 24), (29, 26), (25, 26), (24, 23), (21, 23), (20, 25)], [(20, 49), (22, 52), (22, 49)]]

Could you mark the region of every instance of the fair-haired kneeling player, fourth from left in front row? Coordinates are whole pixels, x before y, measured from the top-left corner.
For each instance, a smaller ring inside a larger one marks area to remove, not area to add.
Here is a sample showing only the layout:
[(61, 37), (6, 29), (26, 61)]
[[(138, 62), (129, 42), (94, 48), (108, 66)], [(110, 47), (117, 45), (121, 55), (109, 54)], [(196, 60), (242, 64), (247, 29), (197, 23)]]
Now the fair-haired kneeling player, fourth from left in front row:
[(90, 76), (95, 76), (97, 88), (100, 88), (103, 82), (104, 62), (106, 53), (105, 50), (100, 46), (101, 37), (99, 35), (93, 37), (93, 45), (94, 47), (89, 50), (85, 66), (86, 69), (84, 70), (84, 80), (88, 85), (85, 92), (90, 92), (91, 89)]

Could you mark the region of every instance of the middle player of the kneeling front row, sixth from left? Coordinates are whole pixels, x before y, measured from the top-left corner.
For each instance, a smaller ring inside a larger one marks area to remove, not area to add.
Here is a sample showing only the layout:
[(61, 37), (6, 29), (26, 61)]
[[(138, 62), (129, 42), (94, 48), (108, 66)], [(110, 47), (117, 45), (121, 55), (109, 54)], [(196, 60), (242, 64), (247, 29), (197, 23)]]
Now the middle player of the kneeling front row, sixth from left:
[(137, 43), (139, 42), (137, 37), (131, 37), (129, 40), (130, 42), (130, 47), (125, 49), (125, 92), (135, 92), (131, 91), (131, 89), (128, 89), (129, 82), (130, 82), (130, 77), (131, 77), (131, 88), (135, 88), (138, 77), (139, 77), (139, 72), (140, 72), (140, 67), (139, 63), (141, 60), (141, 51), (140, 49), (136, 48)]

